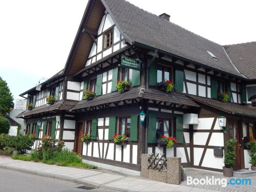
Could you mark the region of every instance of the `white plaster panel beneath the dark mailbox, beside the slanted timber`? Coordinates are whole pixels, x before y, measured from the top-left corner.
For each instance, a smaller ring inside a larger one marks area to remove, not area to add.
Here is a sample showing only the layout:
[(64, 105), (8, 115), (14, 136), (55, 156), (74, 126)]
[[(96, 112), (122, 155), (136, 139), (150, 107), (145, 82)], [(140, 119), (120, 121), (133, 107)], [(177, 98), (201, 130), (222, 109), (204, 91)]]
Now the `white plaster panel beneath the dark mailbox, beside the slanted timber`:
[(224, 166), (223, 158), (222, 157), (215, 157), (214, 156), (214, 149), (213, 148), (207, 148), (202, 166), (222, 169), (222, 167)]

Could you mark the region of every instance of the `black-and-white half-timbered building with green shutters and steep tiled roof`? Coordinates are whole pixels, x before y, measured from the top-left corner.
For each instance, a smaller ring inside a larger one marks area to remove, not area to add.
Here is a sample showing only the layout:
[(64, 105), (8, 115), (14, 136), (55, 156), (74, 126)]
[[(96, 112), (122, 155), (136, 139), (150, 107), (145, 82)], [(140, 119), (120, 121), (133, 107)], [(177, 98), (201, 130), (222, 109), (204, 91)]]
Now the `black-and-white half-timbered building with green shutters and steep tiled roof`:
[[(235, 169), (248, 168), (244, 138), (255, 138), (256, 42), (221, 46), (169, 21), (169, 15), (146, 12), (123, 0), (90, 0), (66, 66), (32, 88), (33, 109), (20, 114), (26, 133), (65, 141), (84, 160), (114, 170), (139, 173), (141, 154), (181, 157), (184, 167), (222, 171), (225, 141), (237, 139)], [(122, 59), (139, 61), (138, 68)], [(117, 80), (132, 83), (117, 92)], [(175, 90), (160, 91), (170, 80)], [(83, 100), (93, 90), (92, 100)], [(229, 93), (228, 102), (218, 92)], [(46, 104), (46, 97), (55, 103)], [(145, 112), (144, 124), (138, 115)], [(226, 129), (218, 118), (225, 116)], [(82, 133), (92, 135), (81, 142)], [(112, 136), (129, 141), (116, 145)], [(161, 136), (174, 136), (174, 147), (158, 147)]]

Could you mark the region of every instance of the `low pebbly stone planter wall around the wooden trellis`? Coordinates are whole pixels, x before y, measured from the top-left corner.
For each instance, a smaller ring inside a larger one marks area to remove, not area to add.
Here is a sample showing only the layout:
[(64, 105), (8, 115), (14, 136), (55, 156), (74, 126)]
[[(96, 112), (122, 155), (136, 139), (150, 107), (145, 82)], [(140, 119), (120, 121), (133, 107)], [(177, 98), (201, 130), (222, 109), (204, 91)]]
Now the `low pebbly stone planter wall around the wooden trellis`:
[(164, 183), (181, 183), (181, 158), (167, 157), (167, 171), (148, 169), (148, 154), (141, 155), (141, 177)]

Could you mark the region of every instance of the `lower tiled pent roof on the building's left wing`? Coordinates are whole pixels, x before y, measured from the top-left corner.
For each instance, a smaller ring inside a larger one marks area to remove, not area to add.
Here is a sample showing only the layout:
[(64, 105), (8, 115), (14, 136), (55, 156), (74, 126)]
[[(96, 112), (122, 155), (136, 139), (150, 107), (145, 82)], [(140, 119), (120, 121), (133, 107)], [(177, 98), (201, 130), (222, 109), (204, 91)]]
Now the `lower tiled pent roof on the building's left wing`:
[(68, 110), (71, 110), (74, 105), (75, 105), (75, 103), (73, 103), (73, 102), (60, 100), (50, 106), (45, 104), (45, 105), (39, 106), (38, 108), (34, 108), (32, 110), (20, 113), (19, 115), (16, 116), (16, 118), (28, 117), (30, 115), (36, 115), (36, 114), (45, 113), (45, 112), (54, 112), (55, 113), (60, 110), (68, 111)]

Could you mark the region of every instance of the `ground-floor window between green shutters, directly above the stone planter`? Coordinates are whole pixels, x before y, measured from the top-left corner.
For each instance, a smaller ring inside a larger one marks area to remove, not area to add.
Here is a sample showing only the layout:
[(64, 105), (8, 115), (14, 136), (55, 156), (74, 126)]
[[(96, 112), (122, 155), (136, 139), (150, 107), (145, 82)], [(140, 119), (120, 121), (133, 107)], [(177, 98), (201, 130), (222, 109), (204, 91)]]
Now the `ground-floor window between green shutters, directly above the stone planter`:
[(162, 135), (170, 136), (170, 122), (170, 119), (157, 118), (156, 139), (159, 139)]

